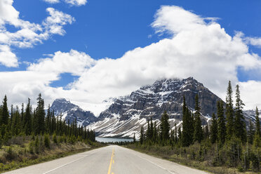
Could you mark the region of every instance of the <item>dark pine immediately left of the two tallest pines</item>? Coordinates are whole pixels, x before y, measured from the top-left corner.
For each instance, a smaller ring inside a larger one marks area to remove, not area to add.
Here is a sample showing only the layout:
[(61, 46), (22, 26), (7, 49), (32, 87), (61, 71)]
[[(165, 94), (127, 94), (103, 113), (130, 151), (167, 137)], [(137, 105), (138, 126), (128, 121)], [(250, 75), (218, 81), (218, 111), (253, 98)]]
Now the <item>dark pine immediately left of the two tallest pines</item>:
[(224, 116), (224, 107), (222, 100), (217, 101), (217, 140), (220, 144), (225, 143), (226, 121)]

